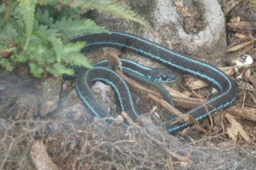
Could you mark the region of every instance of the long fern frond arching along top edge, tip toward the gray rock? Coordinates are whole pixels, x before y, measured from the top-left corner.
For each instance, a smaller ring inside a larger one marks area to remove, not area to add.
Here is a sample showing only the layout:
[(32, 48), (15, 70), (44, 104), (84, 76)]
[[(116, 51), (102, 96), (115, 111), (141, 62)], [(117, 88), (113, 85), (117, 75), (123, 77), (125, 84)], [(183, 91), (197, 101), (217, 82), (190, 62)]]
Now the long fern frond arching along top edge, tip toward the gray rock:
[(145, 26), (146, 28), (152, 29), (150, 24), (143, 19), (143, 17), (138, 17), (138, 15), (129, 10), (128, 6), (119, 3), (119, 1), (114, 0), (81, 0), (72, 1), (67, 3), (73, 8), (82, 8), (83, 10), (95, 9), (98, 12), (110, 13), (115, 17), (120, 17), (123, 19), (129, 19), (133, 22), (138, 22)]

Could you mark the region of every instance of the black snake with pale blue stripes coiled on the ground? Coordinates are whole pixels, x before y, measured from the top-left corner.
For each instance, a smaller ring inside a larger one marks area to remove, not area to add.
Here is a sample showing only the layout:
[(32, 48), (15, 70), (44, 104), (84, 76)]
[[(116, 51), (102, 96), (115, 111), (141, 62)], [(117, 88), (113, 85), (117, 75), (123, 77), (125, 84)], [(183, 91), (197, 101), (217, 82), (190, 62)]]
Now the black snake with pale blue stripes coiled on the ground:
[[(83, 52), (88, 49), (97, 49), (102, 47), (112, 47), (116, 49), (125, 49), (140, 54), (159, 62), (167, 67), (177, 69), (185, 74), (198, 77), (205, 80), (218, 90), (218, 95), (207, 100), (203, 105), (200, 105), (193, 110), (189, 110), (186, 114), (191, 114), (197, 121), (206, 119), (209, 114), (213, 114), (217, 110), (227, 108), (232, 105), (237, 98), (237, 87), (232, 79), (223, 71), (206, 62), (196, 60), (189, 56), (177, 53), (160, 44), (150, 40), (145, 40), (142, 37), (113, 31), (111, 33), (95, 33), (87, 34), (79, 37), (74, 37), (69, 42), (86, 41), (87, 44), (83, 48)], [(136, 75), (136, 69), (128, 71)], [(141, 79), (141, 78), (138, 78)], [(81, 101), (92, 112), (95, 117), (104, 118), (107, 123), (111, 123), (113, 118), (102, 108), (102, 105), (97, 101), (90, 86), (96, 80), (100, 80), (113, 87), (118, 96), (122, 111), (127, 112), (134, 121), (138, 121), (138, 112), (134, 107), (134, 101), (129, 91), (127, 83), (122, 78), (104, 66), (97, 66), (94, 69), (79, 71), (76, 79), (76, 90)], [(166, 92), (163, 92), (165, 94)], [(168, 98), (168, 94), (166, 94)], [(191, 125), (189, 122), (166, 124), (168, 133), (177, 133), (178, 130)]]

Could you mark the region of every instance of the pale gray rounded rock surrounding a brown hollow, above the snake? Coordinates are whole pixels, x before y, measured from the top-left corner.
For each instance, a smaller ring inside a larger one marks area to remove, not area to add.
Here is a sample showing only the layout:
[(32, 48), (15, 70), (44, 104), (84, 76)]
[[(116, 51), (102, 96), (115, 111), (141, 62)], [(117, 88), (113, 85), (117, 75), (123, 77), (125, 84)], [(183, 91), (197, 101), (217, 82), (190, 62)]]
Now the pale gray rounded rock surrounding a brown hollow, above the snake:
[(196, 0), (195, 3), (197, 8), (204, 11), (202, 16), (206, 26), (198, 33), (186, 33), (183, 17), (175, 9), (173, 1), (156, 1), (153, 23), (157, 37), (161, 39), (161, 44), (171, 49), (205, 60), (223, 56), (226, 40), (225, 17), (221, 6), (217, 0)]

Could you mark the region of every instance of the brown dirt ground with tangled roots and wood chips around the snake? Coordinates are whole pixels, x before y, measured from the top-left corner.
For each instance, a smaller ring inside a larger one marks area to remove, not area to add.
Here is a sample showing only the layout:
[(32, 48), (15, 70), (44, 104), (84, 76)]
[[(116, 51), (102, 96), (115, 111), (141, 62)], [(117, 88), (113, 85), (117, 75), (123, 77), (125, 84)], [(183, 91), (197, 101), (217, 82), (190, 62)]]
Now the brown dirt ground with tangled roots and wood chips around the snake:
[[(223, 67), (239, 89), (232, 108), (173, 136), (154, 125), (163, 109), (150, 101), (147, 110), (156, 106), (157, 113), (127, 129), (93, 119), (72, 81), (37, 80), (26, 67), (1, 69), (0, 94), (8, 105), (0, 105), (0, 169), (256, 169), (256, 7), (220, 2), (227, 22)], [(234, 64), (250, 58), (246, 67)], [(189, 99), (207, 98), (205, 84), (190, 77), (184, 83), (180, 92)]]

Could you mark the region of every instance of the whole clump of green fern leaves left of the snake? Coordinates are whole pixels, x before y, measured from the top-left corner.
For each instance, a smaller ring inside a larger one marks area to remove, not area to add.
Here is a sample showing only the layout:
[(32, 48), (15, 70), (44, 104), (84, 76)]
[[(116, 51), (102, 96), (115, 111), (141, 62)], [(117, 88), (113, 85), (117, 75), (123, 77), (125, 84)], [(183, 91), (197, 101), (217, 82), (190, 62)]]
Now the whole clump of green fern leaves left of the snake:
[(0, 66), (11, 71), (16, 63), (27, 63), (35, 77), (45, 71), (74, 74), (67, 66), (93, 68), (81, 53), (86, 42), (66, 42), (87, 33), (109, 33), (83, 18), (91, 8), (150, 27), (115, 0), (6, 0), (0, 3)]

